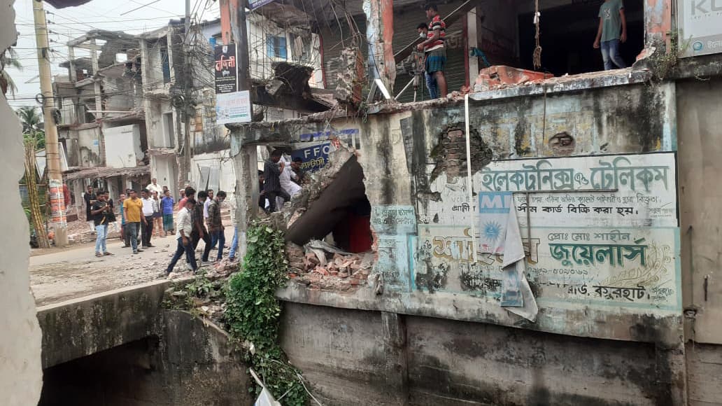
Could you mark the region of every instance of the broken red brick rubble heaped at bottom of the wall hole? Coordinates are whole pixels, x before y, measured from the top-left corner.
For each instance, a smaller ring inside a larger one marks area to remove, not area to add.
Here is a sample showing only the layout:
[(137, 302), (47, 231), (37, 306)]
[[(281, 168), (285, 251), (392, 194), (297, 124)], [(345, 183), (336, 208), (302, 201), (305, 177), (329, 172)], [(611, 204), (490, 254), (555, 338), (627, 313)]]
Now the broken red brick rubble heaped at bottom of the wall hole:
[(328, 252), (323, 249), (304, 248), (287, 243), (289, 276), (311, 289), (352, 292), (367, 285), (373, 269), (371, 251), (351, 254)]

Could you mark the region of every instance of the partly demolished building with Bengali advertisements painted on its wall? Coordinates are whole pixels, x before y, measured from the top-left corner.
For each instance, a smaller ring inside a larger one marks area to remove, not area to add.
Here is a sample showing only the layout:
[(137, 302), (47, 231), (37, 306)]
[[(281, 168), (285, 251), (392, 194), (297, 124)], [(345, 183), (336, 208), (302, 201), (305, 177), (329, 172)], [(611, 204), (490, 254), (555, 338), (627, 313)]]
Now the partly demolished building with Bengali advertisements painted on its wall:
[(591, 47), (600, 2), (544, 2), (541, 26), (538, 2), (448, 2), (440, 14), (462, 15), (451, 95), (418, 101), (419, 86), (415, 103), (401, 90), (418, 4), (311, 3), (339, 105), (227, 126), (241, 233), (265, 217), (258, 147), (301, 157), (311, 178), (271, 217), (290, 263), (284, 349), (321, 398), (718, 401), (703, 371), (718, 370), (719, 272), (703, 258), (718, 246), (704, 207), (720, 123), (705, 106), (722, 101), (722, 70), (674, 40), (672, 1), (625, 4), (634, 64), (607, 72)]

